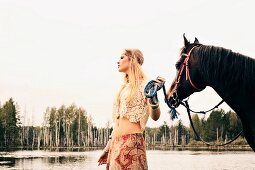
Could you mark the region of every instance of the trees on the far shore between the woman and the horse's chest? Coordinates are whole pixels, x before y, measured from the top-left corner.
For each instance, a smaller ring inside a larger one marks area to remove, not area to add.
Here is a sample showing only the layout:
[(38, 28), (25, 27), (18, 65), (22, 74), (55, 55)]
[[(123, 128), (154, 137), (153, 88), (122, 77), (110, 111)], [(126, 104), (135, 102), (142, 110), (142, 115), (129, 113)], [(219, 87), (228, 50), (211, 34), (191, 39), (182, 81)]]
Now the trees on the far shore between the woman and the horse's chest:
[[(194, 114), (192, 115), (192, 122), (200, 137), (211, 143), (227, 142), (242, 131), (242, 124), (236, 113), (225, 112), (222, 109), (212, 111), (207, 119), (205, 117), (199, 118), (198, 114)], [(192, 145), (198, 144), (199, 141), (191, 125), (186, 127), (181, 120), (172, 126), (164, 122), (158, 128), (147, 127), (145, 132), (147, 143), (150, 145)], [(247, 144), (243, 135), (239, 141), (240, 144)]]

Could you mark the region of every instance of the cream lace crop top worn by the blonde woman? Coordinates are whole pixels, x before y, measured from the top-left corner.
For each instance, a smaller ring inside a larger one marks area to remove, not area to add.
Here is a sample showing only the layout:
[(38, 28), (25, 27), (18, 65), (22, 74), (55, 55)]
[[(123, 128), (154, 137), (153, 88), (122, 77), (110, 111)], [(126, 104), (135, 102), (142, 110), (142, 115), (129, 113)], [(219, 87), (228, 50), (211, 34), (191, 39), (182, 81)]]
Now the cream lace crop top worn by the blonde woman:
[(127, 103), (126, 99), (130, 92), (130, 84), (128, 83), (120, 93), (119, 105), (113, 104), (113, 122), (116, 123), (119, 117), (126, 117), (130, 122), (140, 122), (141, 128), (144, 130), (148, 121), (148, 105), (144, 97), (144, 84), (141, 83), (134, 98)]

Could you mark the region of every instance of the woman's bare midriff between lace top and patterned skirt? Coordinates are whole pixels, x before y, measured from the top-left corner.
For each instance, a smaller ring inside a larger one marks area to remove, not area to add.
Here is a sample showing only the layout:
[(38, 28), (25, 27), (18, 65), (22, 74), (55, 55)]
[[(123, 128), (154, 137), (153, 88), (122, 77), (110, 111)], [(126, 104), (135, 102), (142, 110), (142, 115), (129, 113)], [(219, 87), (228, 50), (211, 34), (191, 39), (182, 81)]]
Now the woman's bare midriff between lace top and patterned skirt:
[(142, 133), (140, 123), (130, 122), (127, 118), (119, 118), (115, 125), (115, 135), (121, 136), (126, 134)]

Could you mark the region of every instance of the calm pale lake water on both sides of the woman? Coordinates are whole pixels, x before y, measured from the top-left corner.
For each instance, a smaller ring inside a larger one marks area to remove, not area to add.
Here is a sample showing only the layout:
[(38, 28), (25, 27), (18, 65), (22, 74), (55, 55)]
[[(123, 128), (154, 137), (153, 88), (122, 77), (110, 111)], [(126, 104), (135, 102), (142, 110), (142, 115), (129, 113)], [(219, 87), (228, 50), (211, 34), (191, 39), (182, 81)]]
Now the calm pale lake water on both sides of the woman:
[[(103, 170), (97, 166), (101, 151), (0, 152), (0, 169), (35, 170)], [(255, 153), (252, 151), (162, 151), (148, 150), (150, 170), (255, 170)]]

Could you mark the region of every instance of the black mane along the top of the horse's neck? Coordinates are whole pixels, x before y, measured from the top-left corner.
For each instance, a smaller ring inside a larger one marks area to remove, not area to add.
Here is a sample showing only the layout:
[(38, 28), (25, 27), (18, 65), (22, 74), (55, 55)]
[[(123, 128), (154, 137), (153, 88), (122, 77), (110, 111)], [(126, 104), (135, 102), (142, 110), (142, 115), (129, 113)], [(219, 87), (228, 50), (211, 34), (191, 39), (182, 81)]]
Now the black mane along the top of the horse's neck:
[(225, 87), (255, 89), (255, 59), (229, 49), (201, 45), (197, 50), (201, 71), (213, 83), (222, 81)]

